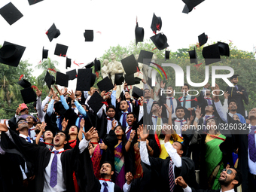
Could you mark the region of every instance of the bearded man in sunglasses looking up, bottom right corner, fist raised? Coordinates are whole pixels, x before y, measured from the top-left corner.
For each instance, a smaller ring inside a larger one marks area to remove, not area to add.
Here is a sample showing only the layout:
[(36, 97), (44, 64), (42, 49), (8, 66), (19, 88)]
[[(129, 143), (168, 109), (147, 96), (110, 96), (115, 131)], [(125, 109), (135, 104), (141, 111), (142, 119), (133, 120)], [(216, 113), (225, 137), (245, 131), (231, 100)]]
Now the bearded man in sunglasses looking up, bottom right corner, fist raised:
[(183, 188), (184, 192), (234, 192), (234, 188), (238, 187), (242, 183), (242, 174), (239, 172), (239, 169), (230, 168), (230, 169), (223, 169), (218, 178), (219, 183), (221, 184), (221, 189), (218, 190), (197, 190), (194, 188), (190, 188), (182, 176), (175, 178), (175, 184), (180, 185)]

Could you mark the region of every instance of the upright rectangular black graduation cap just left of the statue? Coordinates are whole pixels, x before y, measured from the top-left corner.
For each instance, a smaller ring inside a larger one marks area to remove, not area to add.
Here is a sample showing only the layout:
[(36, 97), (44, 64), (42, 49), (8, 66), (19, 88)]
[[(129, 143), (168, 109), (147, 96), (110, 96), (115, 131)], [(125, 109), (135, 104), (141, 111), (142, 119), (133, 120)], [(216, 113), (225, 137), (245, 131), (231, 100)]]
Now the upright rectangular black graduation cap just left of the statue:
[(77, 88), (75, 90), (90, 91), (93, 69), (78, 69)]

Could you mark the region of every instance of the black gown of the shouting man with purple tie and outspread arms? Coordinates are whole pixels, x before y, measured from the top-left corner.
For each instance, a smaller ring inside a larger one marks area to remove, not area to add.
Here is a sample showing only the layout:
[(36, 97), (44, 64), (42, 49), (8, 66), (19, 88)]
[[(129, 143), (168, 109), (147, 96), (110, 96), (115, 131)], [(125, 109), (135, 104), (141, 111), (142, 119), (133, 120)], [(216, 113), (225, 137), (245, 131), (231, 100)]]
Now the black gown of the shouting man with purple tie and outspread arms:
[[(48, 148), (23, 141), (11, 130), (10, 133), (16, 144), (17, 151), (25, 157), (26, 161), (32, 162), (35, 165), (35, 192), (43, 191), (44, 170), (50, 161), (50, 150)], [(2, 148), (8, 148), (8, 143), (10, 142), (9, 137), (5, 133), (2, 133)], [(75, 148), (62, 152), (61, 154), (62, 172), (64, 183), (66, 184), (66, 191), (75, 191), (73, 172), (76, 164), (75, 160), (78, 159), (78, 154), (78, 145), (76, 145)]]

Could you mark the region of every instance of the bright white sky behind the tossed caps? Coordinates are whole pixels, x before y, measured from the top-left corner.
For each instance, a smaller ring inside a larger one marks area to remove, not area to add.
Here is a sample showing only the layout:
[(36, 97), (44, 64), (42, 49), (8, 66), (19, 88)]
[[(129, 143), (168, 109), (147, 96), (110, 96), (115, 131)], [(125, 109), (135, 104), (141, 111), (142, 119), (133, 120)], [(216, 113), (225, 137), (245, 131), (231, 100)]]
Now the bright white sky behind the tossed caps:
[[(9, 2), (1, 0), (0, 8)], [(25, 46), (22, 59), (28, 59), (33, 67), (41, 60), (44, 46), (50, 59), (60, 63), (58, 69), (63, 73), (79, 67), (72, 64), (66, 70), (66, 58), (53, 54), (56, 43), (69, 46), (67, 56), (72, 62), (87, 64), (102, 56), (110, 46), (128, 46), (134, 41), (136, 17), (145, 30), (144, 40), (149, 39), (154, 35), (150, 28), (154, 13), (162, 19), (161, 32), (168, 38), (168, 50), (196, 44), (203, 32), (209, 36), (207, 43), (230, 40), (240, 50), (247, 51), (256, 46), (255, 0), (206, 0), (189, 14), (182, 13), (181, 0), (44, 0), (31, 6), (27, 0), (11, 2), (23, 17), (10, 26), (0, 16), (0, 44), (9, 41)], [(50, 42), (45, 32), (53, 23), (61, 34)], [(84, 41), (85, 29), (94, 30), (93, 42)], [(40, 74), (34, 69), (33, 75)]]

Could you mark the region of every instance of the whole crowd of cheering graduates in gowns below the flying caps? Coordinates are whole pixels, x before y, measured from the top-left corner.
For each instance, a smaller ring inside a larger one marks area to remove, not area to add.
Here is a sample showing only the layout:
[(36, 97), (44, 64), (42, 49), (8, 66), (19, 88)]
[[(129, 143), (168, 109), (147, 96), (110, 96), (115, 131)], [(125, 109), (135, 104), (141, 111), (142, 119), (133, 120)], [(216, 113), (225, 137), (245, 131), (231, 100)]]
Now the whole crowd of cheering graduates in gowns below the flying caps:
[(37, 117), (23, 103), (0, 124), (1, 191), (255, 191), (256, 108), (245, 114), (248, 93), (230, 81), (223, 104), (217, 84), (197, 97), (184, 84), (179, 98), (163, 81), (118, 97), (36, 88)]

